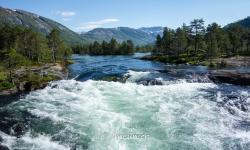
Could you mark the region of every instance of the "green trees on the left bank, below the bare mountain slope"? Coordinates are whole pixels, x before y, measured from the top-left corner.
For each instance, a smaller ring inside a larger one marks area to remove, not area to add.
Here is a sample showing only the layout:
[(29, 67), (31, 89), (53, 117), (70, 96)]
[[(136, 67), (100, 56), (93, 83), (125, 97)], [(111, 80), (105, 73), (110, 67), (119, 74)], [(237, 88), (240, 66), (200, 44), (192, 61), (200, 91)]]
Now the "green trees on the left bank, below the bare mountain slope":
[(71, 55), (71, 48), (60, 38), (58, 30), (52, 30), (45, 37), (31, 29), (20, 26), (0, 26), (0, 72), (18, 66), (49, 62), (65, 62)]

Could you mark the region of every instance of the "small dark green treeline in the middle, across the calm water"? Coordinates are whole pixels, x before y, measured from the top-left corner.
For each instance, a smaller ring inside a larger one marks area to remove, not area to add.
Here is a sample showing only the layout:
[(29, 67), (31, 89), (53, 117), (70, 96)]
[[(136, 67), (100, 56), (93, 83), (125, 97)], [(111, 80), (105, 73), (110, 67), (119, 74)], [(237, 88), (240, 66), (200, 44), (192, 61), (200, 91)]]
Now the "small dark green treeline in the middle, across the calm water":
[(76, 54), (89, 55), (129, 55), (133, 54), (135, 47), (131, 40), (118, 43), (116, 39), (112, 38), (109, 42), (102, 41), (101, 43), (95, 41), (90, 44), (81, 44), (72, 47)]

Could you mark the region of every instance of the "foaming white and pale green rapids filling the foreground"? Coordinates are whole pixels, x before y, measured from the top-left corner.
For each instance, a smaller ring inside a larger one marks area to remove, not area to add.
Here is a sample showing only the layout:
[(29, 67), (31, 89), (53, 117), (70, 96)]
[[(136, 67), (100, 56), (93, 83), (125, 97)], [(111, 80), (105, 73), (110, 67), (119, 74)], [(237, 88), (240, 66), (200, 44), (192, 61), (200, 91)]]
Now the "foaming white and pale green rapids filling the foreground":
[(235, 128), (239, 116), (218, 107), (221, 94), (209, 92), (217, 85), (144, 86), (134, 78), (127, 83), (63, 80), (30, 93), (4, 109), (27, 111), (41, 121), (20, 138), (0, 132), (3, 144), (36, 150), (250, 148), (250, 131)]

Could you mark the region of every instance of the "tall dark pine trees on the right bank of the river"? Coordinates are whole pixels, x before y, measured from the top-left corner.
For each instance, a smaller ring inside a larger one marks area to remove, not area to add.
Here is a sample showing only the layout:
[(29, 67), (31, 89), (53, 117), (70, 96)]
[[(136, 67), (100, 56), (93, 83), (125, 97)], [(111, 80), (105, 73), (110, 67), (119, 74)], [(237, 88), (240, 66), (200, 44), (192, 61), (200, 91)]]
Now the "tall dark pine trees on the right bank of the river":
[(222, 28), (212, 23), (205, 27), (203, 19), (195, 19), (176, 30), (165, 28), (163, 36), (156, 38), (153, 54), (176, 63), (250, 55), (250, 30), (237, 24)]

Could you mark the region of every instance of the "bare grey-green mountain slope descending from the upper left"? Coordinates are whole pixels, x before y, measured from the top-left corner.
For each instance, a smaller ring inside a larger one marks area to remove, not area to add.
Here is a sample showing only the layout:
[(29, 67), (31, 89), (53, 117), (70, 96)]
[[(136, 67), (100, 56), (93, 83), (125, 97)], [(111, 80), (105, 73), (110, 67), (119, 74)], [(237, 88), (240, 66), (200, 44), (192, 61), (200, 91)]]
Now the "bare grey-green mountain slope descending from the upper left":
[(19, 9), (13, 10), (0, 7), (0, 24), (21, 25), (44, 35), (47, 35), (52, 29), (57, 29), (60, 31), (62, 39), (68, 44), (87, 41), (58, 22)]

